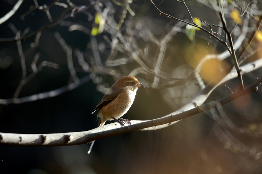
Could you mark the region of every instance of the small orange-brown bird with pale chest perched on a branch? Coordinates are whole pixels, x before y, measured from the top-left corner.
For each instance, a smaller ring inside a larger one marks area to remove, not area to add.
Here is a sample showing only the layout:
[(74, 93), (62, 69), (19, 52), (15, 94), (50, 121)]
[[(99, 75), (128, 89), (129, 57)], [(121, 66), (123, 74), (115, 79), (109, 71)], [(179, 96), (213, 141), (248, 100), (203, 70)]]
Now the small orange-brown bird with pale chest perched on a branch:
[[(134, 102), (135, 95), (138, 88), (144, 87), (142, 83), (138, 81), (133, 76), (124, 76), (119, 78), (112, 86), (109, 88), (102, 100), (98, 103), (95, 110), (91, 113), (93, 114), (96, 110), (98, 126), (103, 126), (107, 120), (115, 120), (120, 123), (121, 126), (124, 126), (126, 121), (128, 124), (131, 124), (131, 120), (121, 118)], [(88, 153), (91, 152), (91, 149), (95, 141), (92, 141)]]

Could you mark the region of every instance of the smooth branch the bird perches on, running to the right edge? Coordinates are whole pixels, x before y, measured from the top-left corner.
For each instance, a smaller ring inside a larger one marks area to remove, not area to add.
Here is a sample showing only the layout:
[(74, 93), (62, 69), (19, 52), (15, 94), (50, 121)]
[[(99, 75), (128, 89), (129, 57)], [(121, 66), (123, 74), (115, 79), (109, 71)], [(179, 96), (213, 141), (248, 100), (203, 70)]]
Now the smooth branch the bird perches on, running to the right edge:
[[(231, 95), (228, 95), (220, 100), (207, 103), (202, 106), (196, 106), (188, 111), (176, 114), (167, 115), (166, 117), (149, 120), (149, 121), (132, 121), (132, 125), (120, 127), (118, 123), (108, 124), (102, 127), (84, 131), (84, 132), (69, 132), (60, 134), (10, 134), (0, 133), (1, 146), (29, 146), (29, 147), (45, 147), (45, 146), (70, 146), (85, 144), (90, 141), (99, 140), (101, 138), (111, 137), (127, 132), (137, 131), (148, 127), (155, 127), (163, 124), (171, 124), (192, 115), (207, 111), (220, 105), (225, 105), (245, 94), (258, 91), (257, 86), (262, 83), (262, 77), (256, 80), (253, 84), (239, 90)], [(140, 122), (140, 123), (138, 123)], [(117, 128), (118, 127), (118, 128)], [(116, 129), (115, 129), (116, 128)]]

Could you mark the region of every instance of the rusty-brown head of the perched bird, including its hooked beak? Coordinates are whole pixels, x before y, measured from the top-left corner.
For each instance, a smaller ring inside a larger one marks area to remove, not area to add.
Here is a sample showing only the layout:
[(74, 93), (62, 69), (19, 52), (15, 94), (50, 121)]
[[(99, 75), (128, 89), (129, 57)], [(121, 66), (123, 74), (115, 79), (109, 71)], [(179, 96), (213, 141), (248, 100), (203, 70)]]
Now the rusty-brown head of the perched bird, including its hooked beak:
[(136, 90), (139, 87), (144, 87), (142, 83), (138, 81), (135, 77), (132, 76), (124, 76), (118, 79), (111, 88), (125, 89), (129, 88), (132, 90)]

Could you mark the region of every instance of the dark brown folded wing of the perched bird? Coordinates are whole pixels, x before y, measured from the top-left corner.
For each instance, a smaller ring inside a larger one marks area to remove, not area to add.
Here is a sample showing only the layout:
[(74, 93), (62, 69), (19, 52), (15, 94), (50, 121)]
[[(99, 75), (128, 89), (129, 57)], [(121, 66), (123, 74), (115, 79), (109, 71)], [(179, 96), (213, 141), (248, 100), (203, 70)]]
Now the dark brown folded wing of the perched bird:
[(103, 106), (106, 106), (111, 101), (116, 100), (122, 92), (123, 92), (123, 89), (112, 90), (111, 88), (109, 88), (106, 94), (103, 96), (102, 100), (98, 103), (95, 110), (91, 114), (93, 114), (97, 109), (100, 109)]

